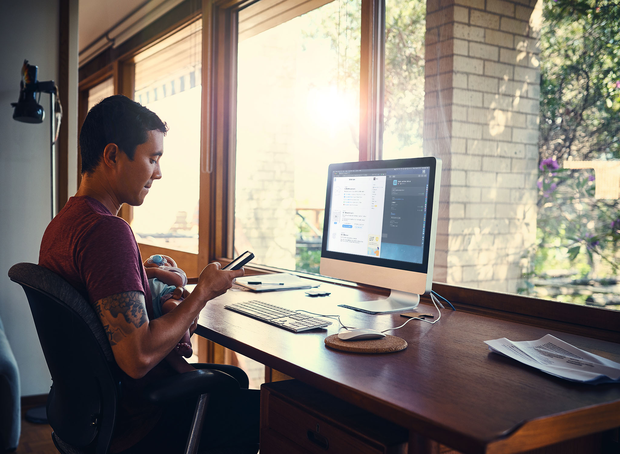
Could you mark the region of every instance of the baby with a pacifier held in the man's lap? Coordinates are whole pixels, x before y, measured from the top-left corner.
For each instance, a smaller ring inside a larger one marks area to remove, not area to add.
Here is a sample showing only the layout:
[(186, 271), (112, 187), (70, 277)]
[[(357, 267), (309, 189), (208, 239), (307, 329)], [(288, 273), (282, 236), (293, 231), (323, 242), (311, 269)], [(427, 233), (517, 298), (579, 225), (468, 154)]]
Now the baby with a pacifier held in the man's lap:
[[(177, 287), (183, 287), (187, 284), (187, 276), (182, 269), (177, 267), (176, 262), (171, 257), (163, 255), (151, 256), (144, 260), (144, 269), (151, 288), (154, 316), (156, 318), (161, 317), (177, 307), (180, 301), (183, 301), (184, 298), (181, 293), (179, 291), (175, 293), (175, 290)], [(192, 342), (190, 342), (189, 331), (185, 332), (172, 354), (185, 358), (192, 356)], [(179, 361), (175, 361), (174, 357), (170, 358), (171, 355), (169, 355), (169, 360), (172, 359), (174, 363), (171, 365), (178, 370)], [(185, 361), (181, 362), (185, 363)]]

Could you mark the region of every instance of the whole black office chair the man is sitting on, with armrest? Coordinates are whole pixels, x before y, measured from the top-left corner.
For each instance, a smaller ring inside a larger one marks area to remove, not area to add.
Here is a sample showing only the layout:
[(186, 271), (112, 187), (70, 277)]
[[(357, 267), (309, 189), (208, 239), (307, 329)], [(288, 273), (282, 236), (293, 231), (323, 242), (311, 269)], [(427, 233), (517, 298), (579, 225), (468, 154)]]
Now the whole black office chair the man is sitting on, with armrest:
[[(53, 384), (47, 416), (56, 448), (62, 454), (107, 454), (123, 390), (120, 368), (97, 314), (68, 282), (39, 265), (13, 265), (9, 278), (24, 288), (50, 369)], [(239, 383), (227, 373), (198, 369), (151, 384), (144, 398), (159, 405), (198, 399), (185, 447), (185, 453), (195, 454), (209, 394), (234, 389), (239, 389)], [(255, 454), (257, 450), (257, 445), (251, 445), (208, 453)]]

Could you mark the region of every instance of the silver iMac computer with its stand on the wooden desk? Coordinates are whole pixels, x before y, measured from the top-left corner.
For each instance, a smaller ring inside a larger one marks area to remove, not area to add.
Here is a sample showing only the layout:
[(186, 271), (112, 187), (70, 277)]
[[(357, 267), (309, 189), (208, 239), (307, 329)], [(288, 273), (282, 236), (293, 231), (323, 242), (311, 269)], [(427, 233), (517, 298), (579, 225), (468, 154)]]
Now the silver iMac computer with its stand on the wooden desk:
[(440, 180), (432, 157), (329, 166), (321, 274), (391, 290), (349, 306), (413, 309), (431, 291)]

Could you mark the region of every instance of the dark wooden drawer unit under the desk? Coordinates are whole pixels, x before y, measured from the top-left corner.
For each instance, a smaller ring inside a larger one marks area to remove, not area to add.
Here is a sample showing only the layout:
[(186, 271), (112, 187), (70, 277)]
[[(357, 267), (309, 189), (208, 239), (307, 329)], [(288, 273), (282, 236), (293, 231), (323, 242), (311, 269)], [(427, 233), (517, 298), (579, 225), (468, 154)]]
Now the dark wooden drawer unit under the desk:
[[(261, 454), (401, 454), (407, 431), (296, 380), (261, 386)], [(283, 450), (282, 443), (289, 443)]]

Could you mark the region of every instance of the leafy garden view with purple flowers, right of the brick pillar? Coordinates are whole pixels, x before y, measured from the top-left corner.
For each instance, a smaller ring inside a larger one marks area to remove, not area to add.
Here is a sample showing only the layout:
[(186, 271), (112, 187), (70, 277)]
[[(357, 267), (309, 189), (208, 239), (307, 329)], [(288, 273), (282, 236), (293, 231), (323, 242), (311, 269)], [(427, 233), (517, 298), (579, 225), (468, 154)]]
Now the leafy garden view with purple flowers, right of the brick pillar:
[(620, 309), (620, 12), (544, 4), (536, 249), (524, 293)]

